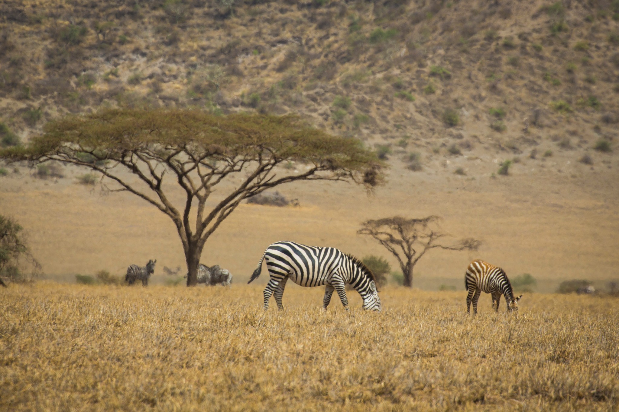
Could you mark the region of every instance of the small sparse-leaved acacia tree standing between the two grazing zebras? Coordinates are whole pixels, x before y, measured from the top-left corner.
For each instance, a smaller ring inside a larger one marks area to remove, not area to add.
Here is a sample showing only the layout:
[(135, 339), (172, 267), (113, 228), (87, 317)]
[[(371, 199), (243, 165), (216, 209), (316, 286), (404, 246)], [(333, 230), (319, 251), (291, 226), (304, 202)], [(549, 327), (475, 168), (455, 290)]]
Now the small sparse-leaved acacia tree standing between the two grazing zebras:
[(384, 219), (370, 220), (361, 224), (360, 235), (370, 235), (383, 245), (397, 262), (404, 274), (404, 286), (412, 287), (413, 267), (426, 251), (434, 248), (444, 250), (477, 250), (481, 242), (467, 238), (454, 245), (443, 245), (439, 240), (448, 237), (441, 232), (438, 216), (428, 216), (423, 219), (405, 219), (394, 216)]

